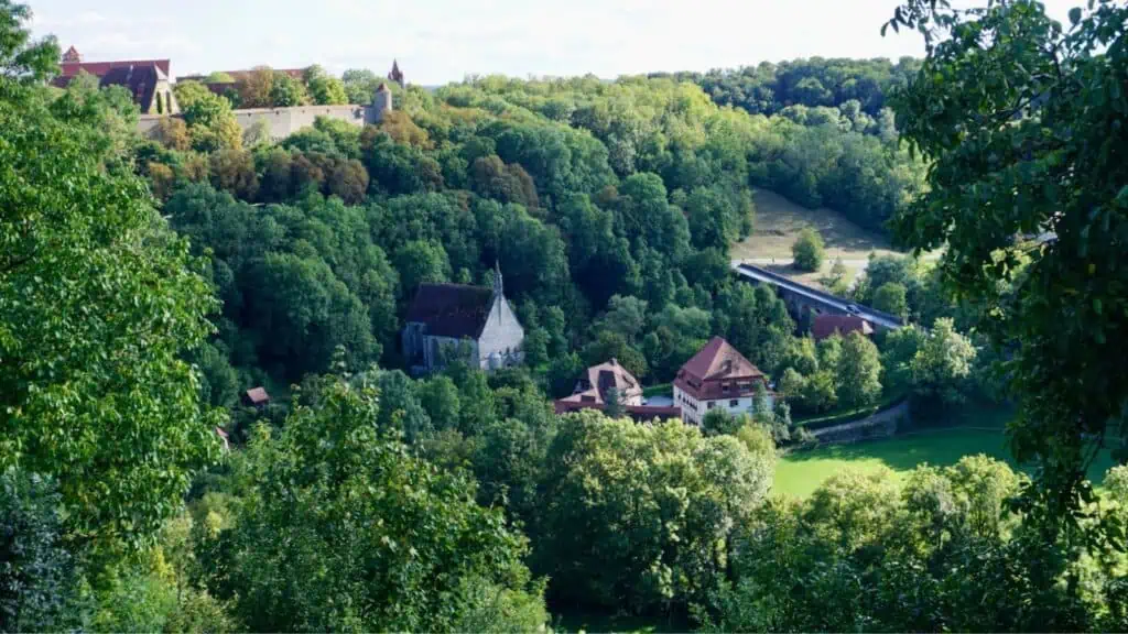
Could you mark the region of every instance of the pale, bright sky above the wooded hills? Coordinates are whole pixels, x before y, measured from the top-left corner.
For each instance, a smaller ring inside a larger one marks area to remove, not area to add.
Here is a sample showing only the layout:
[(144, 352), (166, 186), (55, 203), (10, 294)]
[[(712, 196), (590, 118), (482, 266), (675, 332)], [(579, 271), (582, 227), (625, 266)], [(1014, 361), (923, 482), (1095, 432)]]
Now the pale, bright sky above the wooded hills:
[[(916, 34), (880, 34), (898, 0), (23, 1), (35, 35), (86, 61), (168, 58), (174, 76), (312, 63), (385, 73), (398, 59), (408, 82), (433, 86), (924, 53)], [(1043, 1), (1063, 21), (1083, 3)]]

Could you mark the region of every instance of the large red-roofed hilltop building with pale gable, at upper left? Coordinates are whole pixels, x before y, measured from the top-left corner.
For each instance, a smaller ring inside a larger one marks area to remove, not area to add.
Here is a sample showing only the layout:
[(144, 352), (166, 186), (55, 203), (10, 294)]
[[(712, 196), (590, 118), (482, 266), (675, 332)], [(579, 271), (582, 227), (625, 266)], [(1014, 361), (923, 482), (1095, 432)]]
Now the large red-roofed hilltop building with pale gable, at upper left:
[(71, 46), (63, 54), (62, 72), (52, 85), (65, 88), (80, 73), (98, 78), (98, 87), (121, 86), (133, 96), (141, 114), (176, 114), (180, 112), (168, 79), (168, 60), (116, 60), (112, 62), (86, 62), (81, 53)]

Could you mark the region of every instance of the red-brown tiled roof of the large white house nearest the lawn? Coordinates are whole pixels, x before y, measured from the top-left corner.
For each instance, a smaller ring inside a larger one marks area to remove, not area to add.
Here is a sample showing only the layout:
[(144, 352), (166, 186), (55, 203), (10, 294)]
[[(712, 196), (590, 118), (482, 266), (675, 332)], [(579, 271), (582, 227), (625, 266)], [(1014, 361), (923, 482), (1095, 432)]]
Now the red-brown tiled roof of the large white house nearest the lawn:
[(767, 385), (764, 372), (721, 337), (710, 340), (673, 380), (678, 389), (697, 400), (749, 396), (760, 382)]

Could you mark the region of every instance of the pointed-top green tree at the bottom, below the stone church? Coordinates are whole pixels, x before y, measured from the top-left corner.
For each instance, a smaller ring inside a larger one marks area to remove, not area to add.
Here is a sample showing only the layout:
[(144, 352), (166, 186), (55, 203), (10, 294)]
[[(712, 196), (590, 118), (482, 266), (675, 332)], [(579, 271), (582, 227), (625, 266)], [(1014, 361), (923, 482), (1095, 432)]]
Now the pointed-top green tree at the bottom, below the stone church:
[(250, 486), (210, 587), (253, 631), (543, 624), (527, 540), (472, 479), (378, 432), (379, 410), (371, 387), (333, 380), (277, 439), (259, 428), (235, 463)]

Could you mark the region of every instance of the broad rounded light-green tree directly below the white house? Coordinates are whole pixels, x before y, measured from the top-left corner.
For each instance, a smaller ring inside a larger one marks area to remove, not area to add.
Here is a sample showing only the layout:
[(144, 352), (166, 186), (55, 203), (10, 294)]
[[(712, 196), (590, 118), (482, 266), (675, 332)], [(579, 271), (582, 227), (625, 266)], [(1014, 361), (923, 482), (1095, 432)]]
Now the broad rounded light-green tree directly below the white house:
[(679, 421), (571, 414), (545, 461), (535, 565), (559, 600), (685, 609), (724, 579), (724, 544), (766, 496), (774, 463)]

